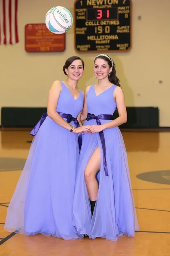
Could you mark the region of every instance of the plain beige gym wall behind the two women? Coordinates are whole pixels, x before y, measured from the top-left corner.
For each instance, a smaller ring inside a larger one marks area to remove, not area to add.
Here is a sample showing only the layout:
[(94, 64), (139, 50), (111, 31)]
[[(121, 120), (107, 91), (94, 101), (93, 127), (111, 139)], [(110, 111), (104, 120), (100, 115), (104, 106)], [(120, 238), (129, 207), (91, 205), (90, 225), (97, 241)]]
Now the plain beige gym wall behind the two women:
[[(125, 93), (127, 106), (155, 106), (160, 126), (170, 126), (170, 0), (133, 0), (132, 50), (110, 53)], [(26, 53), (24, 28), (27, 23), (44, 23), (46, 12), (56, 5), (72, 13), (74, 0), (19, 0), (20, 42), (0, 46), (0, 108), (2, 106), (47, 106), (49, 87), (63, 80), (65, 59), (78, 55), (74, 50), (74, 28), (66, 34), (63, 53)], [(141, 15), (141, 20), (138, 16)], [(79, 87), (95, 82), (95, 53), (80, 54), (85, 75)], [(163, 82), (159, 84), (159, 80)]]

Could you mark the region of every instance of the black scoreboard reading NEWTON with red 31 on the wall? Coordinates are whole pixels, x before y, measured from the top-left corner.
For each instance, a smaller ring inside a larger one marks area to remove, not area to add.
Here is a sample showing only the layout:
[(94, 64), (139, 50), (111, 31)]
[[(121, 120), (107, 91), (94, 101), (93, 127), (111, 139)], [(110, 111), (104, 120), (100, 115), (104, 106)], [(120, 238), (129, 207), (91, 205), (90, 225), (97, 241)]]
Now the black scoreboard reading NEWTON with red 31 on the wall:
[(131, 0), (76, 0), (75, 49), (78, 52), (128, 51)]

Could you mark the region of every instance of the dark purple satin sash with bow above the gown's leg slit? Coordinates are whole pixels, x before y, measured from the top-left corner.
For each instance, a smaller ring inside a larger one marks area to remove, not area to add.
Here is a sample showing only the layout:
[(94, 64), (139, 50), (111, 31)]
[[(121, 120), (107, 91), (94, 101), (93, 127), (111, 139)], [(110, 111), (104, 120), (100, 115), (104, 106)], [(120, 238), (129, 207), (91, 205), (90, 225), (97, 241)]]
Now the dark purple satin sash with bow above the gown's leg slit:
[[(94, 114), (87, 114), (86, 120), (92, 120), (95, 119), (97, 125), (101, 125), (101, 120), (113, 120), (113, 116), (111, 114), (100, 114), (98, 116), (95, 116)], [(107, 162), (106, 162), (106, 145), (105, 145), (105, 137), (103, 131), (99, 132), (99, 136), (101, 138), (101, 144), (102, 144), (102, 149), (103, 149), (103, 165), (104, 165), (104, 170), (105, 170), (105, 175), (109, 176), (108, 170), (107, 170)]]

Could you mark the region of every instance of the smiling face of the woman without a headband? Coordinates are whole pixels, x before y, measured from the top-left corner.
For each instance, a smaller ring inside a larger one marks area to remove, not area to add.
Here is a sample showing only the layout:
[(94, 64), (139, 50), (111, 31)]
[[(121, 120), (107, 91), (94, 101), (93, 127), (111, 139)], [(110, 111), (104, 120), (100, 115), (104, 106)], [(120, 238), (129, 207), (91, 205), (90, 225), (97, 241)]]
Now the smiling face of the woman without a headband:
[(65, 69), (68, 77), (72, 80), (79, 80), (84, 72), (83, 63), (80, 59), (75, 59), (72, 64), (69, 65), (68, 69)]

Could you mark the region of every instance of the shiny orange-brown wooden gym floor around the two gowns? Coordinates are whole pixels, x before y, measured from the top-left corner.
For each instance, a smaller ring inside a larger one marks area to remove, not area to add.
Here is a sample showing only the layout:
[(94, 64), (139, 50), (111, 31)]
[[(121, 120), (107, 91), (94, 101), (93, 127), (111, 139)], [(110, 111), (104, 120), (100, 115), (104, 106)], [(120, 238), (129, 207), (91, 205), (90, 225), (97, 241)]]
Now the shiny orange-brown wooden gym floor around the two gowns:
[(112, 242), (26, 237), (4, 230), (31, 145), (29, 130), (0, 129), (0, 256), (170, 256), (170, 132), (123, 132), (140, 231)]

